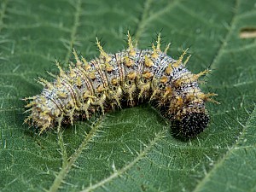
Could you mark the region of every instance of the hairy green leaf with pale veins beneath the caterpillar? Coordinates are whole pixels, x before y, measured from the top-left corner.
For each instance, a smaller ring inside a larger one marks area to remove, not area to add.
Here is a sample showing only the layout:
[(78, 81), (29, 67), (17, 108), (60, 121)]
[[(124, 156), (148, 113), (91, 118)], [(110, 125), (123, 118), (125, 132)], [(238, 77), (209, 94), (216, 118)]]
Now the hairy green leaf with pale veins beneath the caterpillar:
[[(256, 191), (256, 9), (253, 0), (1, 0), (1, 191)], [(189, 69), (209, 67), (211, 124), (199, 137), (172, 136), (148, 104), (96, 115), (42, 136), (23, 125), (21, 100), (34, 79), (67, 67), (73, 46), (94, 58), (96, 37), (114, 53), (127, 30), (147, 49), (162, 32)], [(253, 35), (254, 34), (254, 35)]]

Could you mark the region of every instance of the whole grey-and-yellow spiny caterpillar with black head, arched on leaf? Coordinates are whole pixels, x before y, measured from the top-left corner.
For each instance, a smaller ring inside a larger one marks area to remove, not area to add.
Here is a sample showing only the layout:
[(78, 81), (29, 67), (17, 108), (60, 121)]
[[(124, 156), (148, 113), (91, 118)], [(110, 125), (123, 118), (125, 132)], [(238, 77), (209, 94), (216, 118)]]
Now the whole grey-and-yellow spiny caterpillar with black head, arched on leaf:
[(150, 102), (166, 119), (177, 122), (177, 132), (183, 137), (195, 137), (209, 122), (206, 102), (215, 102), (214, 93), (204, 94), (199, 78), (208, 73), (189, 72), (183, 61), (187, 50), (175, 60), (160, 49), (160, 34), (152, 49), (138, 49), (137, 43), (127, 33), (128, 48), (108, 54), (96, 38), (100, 56), (86, 61), (75, 49), (76, 63), (64, 71), (56, 61), (60, 73), (55, 80), (39, 78), (44, 85), (42, 93), (26, 97), (25, 123), (40, 129), (39, 134), (61, 124), (73, 125), (80, 116), (89, 119), (93, 113), (106, 113), (124, 105), (136, 106)]

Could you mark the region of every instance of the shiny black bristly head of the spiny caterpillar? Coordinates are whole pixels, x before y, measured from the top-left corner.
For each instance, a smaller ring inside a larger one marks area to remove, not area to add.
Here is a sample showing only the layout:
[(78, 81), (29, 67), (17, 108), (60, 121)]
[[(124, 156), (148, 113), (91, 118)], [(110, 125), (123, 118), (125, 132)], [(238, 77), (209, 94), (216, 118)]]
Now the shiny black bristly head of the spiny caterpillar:
[(178, 126), (184, 137), (195, 137), (205, 130), (209, 120), (206, 113), (188, 113), (178, 122)]

